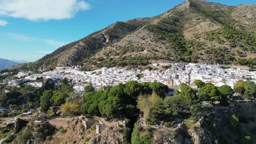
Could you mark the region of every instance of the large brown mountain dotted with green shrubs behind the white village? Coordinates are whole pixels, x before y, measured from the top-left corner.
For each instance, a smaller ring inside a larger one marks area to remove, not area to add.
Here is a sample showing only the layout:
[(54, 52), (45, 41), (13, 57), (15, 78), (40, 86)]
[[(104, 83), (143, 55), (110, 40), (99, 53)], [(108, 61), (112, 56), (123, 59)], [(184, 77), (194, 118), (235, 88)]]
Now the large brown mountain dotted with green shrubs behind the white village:
[[(116, 22), (60, 47), (31, 68), (145, 67), (150, 62), (256, 64), (256, 5), (188, 0), (166, 13)], [(28, 66), (27, 66), (28, 67)]]

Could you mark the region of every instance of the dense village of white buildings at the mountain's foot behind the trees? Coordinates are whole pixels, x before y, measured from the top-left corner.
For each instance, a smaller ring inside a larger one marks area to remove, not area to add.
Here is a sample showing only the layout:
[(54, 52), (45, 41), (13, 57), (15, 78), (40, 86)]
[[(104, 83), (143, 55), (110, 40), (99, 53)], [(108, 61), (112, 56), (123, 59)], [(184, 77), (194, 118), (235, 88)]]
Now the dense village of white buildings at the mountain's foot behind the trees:
[[(159, 63), (150, 64), (153, 66)], [(165, 64), (166, 65), (166, 64)], [(31, 74), (30, 71), (20, 71), (18, 79), (5, 80), (3, 84), (19, 87), (20, 83), (31, 85), (33, 87), (42, 87), (43, 82), (37, 82), (37, 79), (53, 79), (55, 85), (61, 85), (61, 79), (72, 80), (73, 89), (76, 92), (83, 92), (84, 87), (92, 84), (95, 90), (101, 86), (116, 86), (120, 83), (126, 83), (131, 80), (138, 82), (161, 82), (168, 86), (169, 93), (172, 95), (177, 89), (181, 89), (181, 83), (197, 89), (195, 80), (201, 80), (206, 83), (212, 83), (215, 86), (228, 85), (234, 88), (238, 80), (251, 80), (256, 82), (256, 71), (242, 70), (240, 68), (224, 69), (220, 65), (208, 65), (199, 63), (172, 63), (171, 68), (162, 70), (140, 70), (125, 68), (101, 68), (94, 71), (80, 71), (80, 67), (56, 67), (53, 71), (46, 71), (42, 74)], [(4, 74), (2, 74), (4, 75)]]

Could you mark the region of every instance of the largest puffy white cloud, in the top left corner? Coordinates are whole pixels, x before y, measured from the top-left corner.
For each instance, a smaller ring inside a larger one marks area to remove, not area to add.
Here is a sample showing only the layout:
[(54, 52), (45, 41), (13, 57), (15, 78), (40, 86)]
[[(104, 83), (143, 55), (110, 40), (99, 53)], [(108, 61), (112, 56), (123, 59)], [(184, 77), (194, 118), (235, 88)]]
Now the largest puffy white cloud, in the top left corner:
[(83, 0), (1, 0), (0, 16), (27, 20), (61, 20), (73, 17), (79, 10), (90, 9)]

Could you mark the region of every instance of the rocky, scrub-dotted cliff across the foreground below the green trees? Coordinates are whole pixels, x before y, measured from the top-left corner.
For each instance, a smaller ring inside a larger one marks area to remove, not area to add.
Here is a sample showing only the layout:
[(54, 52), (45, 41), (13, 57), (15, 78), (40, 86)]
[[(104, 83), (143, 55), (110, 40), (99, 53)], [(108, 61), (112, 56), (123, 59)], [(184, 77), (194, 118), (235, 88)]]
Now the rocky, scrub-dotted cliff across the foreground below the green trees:
[[(216, 106), (199, 121), (185, 120), (174, 128), (158, 129), (154, 125), (138, 128), (140, 137), (153, 143), (253, 143), (256, 137), (255, 101)], [(232, 116), (236, 116), (234, 127)], [(124, 127), (108, 125), (96, 134), (96, 123), (85, 129), (81, 119), (37, 123), (16, 119), (13, 133), (5, 142), (11, 143), (124, 143)], [(53, 120), (52, 120), (53, 121)], [(235, 130), (234, 130), (235, 128)], [(134, 130), (134, 129), (133, 129)], [(133, 138), (132, 138), (133, 139)]]

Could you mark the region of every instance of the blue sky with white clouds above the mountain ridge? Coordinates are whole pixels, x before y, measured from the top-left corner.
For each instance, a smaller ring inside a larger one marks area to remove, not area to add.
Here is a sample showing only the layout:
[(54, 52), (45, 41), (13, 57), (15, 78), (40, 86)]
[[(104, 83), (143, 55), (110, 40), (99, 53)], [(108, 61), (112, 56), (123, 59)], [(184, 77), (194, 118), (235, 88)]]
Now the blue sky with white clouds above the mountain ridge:
[[(256, 0), (210, 0), (226, 5)], [(184, 1), (1, 0), (0, 58), (36, 61), (117, 21), (151, 17)]]

